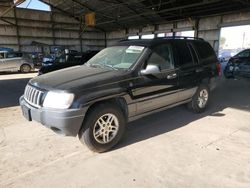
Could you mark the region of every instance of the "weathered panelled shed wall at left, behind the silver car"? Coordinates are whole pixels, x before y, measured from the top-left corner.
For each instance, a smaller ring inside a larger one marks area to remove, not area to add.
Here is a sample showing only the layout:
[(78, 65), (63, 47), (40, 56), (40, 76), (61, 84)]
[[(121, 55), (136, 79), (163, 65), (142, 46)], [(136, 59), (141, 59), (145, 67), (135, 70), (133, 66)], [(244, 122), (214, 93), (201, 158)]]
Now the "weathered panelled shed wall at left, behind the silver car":
[[(0, 12), (6, 7), (0, 7)], [(41, 52), (32, 41), (46, 45), (65, 46), (72, 50), (98, 50), (105, 47), (105, 34), (88, 29), (80, 32), (80, 23), (60, 12), (45, 12), (16, 8), (0, 20), (0, 47), (9, 47), (26, 52)], [(81, 34), (81, 35), (80, 35)], [(82, 47), (81, 47), (82, 45)]]

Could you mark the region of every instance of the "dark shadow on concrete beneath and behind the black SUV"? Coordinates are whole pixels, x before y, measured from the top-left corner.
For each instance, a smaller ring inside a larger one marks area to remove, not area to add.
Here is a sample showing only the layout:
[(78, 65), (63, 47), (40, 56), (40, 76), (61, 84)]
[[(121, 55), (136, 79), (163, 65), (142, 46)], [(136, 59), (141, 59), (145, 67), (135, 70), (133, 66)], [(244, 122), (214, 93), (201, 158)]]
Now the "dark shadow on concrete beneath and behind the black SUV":
[(195, 114), (182, 105), (131, 122), (123, 141), (114, 150), (173, 131), (206, 116), (221, 118), (225, 116), (223, 110), (226, 108), (243, 110), (250, 115), (250, 82), (221, 81), (217, 89), (211, 93), (209, 107), (204, 113)]

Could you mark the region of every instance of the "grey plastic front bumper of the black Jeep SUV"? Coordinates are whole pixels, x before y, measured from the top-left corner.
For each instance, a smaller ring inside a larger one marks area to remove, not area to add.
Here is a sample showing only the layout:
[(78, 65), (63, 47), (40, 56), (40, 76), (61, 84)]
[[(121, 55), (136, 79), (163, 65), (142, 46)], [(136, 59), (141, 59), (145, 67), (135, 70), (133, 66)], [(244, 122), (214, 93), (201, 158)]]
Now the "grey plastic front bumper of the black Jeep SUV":
[(29, 105), (23, 96), (19, 99), (19, 103), (26, 119), (40, 122), (57, 134), (65, 136), (78, 134), (87, 111), (87, 108), (66, 110), (35, 108)]

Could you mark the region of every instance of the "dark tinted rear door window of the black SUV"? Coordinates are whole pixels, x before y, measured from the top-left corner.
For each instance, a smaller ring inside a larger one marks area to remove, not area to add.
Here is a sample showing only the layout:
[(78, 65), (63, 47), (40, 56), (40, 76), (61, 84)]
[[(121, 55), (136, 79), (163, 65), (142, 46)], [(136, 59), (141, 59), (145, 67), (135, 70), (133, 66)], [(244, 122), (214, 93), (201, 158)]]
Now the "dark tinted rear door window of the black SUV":
[(178, 41), (175, 43), (175, 46), (178, 53), (179, 65), (193, 65), (193, 58), (187, 43), (185, 41)]

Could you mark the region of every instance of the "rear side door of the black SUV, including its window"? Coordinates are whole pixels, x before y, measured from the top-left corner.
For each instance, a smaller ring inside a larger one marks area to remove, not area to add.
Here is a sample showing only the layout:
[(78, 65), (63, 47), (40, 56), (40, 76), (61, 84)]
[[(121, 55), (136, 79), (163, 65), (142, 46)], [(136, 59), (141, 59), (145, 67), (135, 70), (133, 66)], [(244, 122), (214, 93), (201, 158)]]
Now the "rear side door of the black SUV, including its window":
[(176, 40), (174, 52), (179, 75), (179, 100), (184, 101), (191, 98), (197, 89), (197, 64), (186, 40)]

